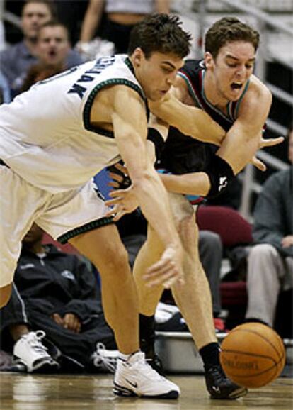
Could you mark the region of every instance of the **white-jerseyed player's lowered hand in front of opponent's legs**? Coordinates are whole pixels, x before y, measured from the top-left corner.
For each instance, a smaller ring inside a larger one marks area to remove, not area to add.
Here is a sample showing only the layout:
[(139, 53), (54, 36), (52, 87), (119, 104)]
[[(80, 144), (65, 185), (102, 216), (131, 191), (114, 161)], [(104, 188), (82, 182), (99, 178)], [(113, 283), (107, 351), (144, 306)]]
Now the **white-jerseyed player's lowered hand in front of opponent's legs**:
[(158, 285), (169, 289), (175, 282), (184, 283), (183, 279), (183, 249), (181, 246), (170, 245), (166, 248), (159, 262), (146, 270), (144, 280), (147, 287)]

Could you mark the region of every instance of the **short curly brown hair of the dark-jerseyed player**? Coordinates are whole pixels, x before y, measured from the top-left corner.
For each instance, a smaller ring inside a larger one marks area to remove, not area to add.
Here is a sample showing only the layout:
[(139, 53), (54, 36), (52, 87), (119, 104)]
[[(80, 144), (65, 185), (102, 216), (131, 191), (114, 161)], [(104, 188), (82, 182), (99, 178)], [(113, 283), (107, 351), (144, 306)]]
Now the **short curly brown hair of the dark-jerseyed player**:
[(235, 17), (224, 17), (216, 21), (205, 35), (205, 51), (217, 57), (219, 49), (231, 41), (247, 41), (256, 50), (260, 41), (260, 34), (246, 23)]

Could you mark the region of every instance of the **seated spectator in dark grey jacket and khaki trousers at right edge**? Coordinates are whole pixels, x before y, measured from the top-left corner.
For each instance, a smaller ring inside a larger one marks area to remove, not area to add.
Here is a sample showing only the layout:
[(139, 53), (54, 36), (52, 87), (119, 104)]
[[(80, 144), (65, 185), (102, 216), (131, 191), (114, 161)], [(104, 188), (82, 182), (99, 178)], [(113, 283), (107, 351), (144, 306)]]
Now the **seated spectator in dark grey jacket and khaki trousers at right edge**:
[(248, 256), (246, 321), (269, 326), (280, 291), (293, 288), (293, 128), (288, 140), (291, 165), (263, 185), (254, 211), (255, 245)]

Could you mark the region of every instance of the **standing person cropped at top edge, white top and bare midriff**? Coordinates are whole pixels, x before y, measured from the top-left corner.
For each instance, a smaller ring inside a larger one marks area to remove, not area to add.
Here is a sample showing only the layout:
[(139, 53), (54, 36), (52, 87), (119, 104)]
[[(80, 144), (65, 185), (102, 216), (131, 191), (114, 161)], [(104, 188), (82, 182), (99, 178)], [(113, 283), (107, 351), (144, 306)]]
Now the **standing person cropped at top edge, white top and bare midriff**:
[(81, 26), (79, 50), (87, 50), (105, 11), (105, 24), (100, 36), (115, 44), (116, 53), (127, 52), (130, 32), (135, 23), (150, 13), (169, 13), (169, 0), (90, 0)]

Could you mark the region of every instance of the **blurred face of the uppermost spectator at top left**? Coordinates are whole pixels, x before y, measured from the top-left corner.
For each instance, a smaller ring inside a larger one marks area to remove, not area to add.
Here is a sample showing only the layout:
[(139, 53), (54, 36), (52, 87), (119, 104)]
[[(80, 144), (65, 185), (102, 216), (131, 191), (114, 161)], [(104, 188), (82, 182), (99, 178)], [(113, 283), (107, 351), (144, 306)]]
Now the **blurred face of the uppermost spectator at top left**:
[(26, 4), (21, 16), (21, 25), (25, 38), (36, 40), (40, 26), (49, 21), (50, 18), (52, 18), (51, 11), (46, 4)]

